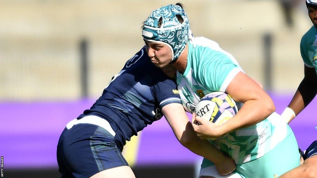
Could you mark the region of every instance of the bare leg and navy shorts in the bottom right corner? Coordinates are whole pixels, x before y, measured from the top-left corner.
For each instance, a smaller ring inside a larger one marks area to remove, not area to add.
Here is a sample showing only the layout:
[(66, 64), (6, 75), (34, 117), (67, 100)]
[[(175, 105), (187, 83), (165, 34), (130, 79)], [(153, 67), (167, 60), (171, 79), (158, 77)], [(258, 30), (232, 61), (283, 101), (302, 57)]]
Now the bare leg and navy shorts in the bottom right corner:
[(317, 177), (317, 140), (306, 151), (301, 152), (301, 165), (281, 175), (280, 178)]

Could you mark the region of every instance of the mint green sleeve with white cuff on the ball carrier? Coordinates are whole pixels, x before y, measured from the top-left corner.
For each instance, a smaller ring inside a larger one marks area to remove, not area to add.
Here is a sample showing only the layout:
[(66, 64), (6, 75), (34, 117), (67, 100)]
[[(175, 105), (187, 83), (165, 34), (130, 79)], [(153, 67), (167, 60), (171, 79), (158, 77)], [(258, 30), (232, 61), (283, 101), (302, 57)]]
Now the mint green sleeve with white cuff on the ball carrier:
[(236, 74), (243, 70), (233, 61), (235, 59), (232, 56), (219, 53), (212, 59), (205, 60), (200, 72), (202, 83), (207, 90), (224, 92)]

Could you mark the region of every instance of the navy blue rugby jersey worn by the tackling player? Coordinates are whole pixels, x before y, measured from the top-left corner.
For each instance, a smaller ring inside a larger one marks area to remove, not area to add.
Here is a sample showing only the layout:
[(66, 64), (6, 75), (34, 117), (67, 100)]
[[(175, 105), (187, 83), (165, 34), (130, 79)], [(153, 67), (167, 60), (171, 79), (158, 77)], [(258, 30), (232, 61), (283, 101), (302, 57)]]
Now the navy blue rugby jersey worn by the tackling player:
[(87, 115), (106, 119), (122, 149), (126, 140), (162, 118), (161, 109), (170, 103), (181, 104), (176, 84), (151, 62), (143, 47), (113, 76), (100, 98), (78, 119)]

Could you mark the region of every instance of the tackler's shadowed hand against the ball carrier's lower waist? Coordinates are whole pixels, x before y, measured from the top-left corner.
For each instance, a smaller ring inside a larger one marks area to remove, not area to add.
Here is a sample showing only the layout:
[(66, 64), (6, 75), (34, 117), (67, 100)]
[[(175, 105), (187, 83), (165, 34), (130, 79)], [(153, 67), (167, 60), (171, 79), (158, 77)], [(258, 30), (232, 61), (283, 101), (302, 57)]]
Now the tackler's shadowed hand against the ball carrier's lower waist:
[(223, 159), (215, 163), (215, 166), (220, 175), (227, 175), (236, 170), (236, 163), (230, 156), (227, 155), (224, 155)]

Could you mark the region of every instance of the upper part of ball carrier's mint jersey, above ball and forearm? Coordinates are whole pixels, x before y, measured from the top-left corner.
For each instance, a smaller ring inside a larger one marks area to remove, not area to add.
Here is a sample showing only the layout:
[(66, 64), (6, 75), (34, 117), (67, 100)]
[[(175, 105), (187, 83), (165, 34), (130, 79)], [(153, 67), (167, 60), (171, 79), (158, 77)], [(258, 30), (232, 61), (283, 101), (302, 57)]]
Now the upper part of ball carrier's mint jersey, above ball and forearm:
[(196, 104), (211, 92), (224, 92), (230, 81), (243, 70), (236, 59), (215, 41), (204, 37), (188, 43), (184, 74), (177, 72), (177, 85), (186, 111), (193, 113)]

